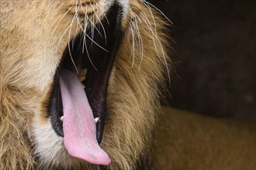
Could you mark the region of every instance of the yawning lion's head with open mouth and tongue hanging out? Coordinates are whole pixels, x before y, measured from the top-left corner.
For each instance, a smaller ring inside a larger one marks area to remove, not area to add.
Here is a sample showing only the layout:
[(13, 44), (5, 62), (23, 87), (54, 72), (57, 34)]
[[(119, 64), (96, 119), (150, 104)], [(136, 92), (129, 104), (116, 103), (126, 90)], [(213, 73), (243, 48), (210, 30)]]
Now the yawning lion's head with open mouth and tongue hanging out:
[(170, 63), (152, 6), (0, 2), (0, 169), (149, 165)]

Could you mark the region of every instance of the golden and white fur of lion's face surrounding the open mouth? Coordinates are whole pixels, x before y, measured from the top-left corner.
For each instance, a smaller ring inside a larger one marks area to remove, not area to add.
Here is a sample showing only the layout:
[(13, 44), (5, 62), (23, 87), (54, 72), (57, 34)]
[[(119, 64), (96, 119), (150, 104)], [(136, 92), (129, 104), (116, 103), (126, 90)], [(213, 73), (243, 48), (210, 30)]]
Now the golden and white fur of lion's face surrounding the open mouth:
[[(99, 168), (67, 155), (45, 116), (55, 70), (81, 32), (82, 19), (74, 16), (83, 8), (95, 12), (92, 5), (74, 8), (77, 2), (0, 2), (0, 169)], [(97, 2), (103, 19), (104, 1)], [(109, 81), (101, 146), (112, 160), (108, 168), (130, 170), (150, 152), (159, 87), (169, 72), (166, 23), (144, 1), (118, 2), (124, 36)]]

